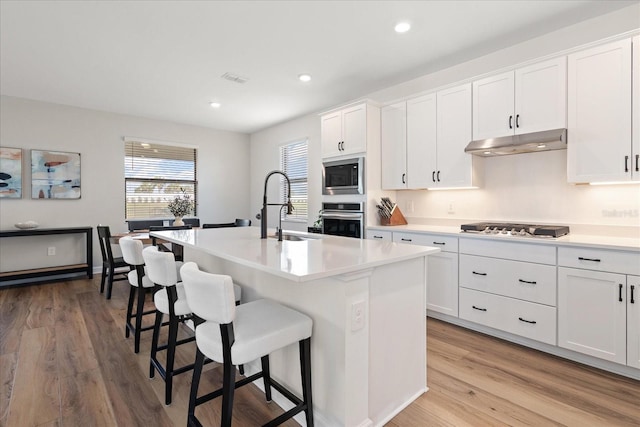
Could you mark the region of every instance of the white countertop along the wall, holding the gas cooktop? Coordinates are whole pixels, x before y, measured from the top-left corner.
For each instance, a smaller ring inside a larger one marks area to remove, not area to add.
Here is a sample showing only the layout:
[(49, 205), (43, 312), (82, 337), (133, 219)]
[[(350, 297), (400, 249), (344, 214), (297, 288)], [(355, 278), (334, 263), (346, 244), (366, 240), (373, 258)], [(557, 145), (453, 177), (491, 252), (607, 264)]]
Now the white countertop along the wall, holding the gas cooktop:
[(631, 250), (640, 252), (640, 237), (616, 237), (606, 235), (588, 235), (569, 233), (558, 238), (516, 237), (501, 234), (466, 233), (459, 226), (407, 224), (394, 226), (367, 227), (369, 230), (402, 231), (407, 233), (446, 234), (455, 237), (492, 239), (500, 241), (526, 242), (536, 244), (553, 244), (558, 246), (588, 246), (600, 249)]

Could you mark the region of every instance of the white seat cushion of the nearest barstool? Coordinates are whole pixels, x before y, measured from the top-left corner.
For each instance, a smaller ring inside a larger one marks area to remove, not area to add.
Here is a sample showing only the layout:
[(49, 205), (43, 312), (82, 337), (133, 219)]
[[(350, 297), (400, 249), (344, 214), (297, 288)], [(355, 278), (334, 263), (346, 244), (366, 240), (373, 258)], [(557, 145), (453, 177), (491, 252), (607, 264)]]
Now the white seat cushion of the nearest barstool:
[[(308, 316), (261, 299), (236, 307), (233, 320), (235, 342), (231, 347), (234, 365), (242, 365), (311, 336), (313, 321)], [(220, 325), (207, 321), (196, 328), (196, 342), (208, 358), (223, 363)]]

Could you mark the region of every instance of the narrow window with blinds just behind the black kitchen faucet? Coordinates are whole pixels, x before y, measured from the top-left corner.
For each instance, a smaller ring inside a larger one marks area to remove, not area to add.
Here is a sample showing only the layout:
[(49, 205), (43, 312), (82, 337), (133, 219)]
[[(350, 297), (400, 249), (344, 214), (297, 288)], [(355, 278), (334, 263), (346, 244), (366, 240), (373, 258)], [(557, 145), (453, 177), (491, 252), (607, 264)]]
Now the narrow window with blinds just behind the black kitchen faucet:
[[(287, 215), (283, 209), (282, 219), (306, 221), (308, 213), (307, 204), (307, 140), (297, 141), (280, 147), (280, 167), (291, 180), (291, 202), (293, 213)], [(287, 181), (281, 180), (280, 196), (282, 200), (287, 197)]]

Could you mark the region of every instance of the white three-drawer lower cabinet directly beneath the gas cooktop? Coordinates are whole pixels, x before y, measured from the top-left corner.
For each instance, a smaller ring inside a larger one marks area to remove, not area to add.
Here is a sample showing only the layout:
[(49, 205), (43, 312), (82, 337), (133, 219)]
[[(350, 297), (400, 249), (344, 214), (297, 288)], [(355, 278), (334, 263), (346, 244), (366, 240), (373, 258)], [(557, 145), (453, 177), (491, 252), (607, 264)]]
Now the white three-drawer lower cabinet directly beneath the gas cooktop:
[(555, 247), (460, 239), (460, 318), (556, 345), (555, 264)]

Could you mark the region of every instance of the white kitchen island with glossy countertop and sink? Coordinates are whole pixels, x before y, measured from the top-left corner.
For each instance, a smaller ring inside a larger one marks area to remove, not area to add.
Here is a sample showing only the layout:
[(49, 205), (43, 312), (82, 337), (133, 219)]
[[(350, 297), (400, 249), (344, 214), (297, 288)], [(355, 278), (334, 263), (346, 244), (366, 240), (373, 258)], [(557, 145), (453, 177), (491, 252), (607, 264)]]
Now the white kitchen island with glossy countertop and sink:
[[(438, 248), (293, 232), (309, 238), (278, 242), (257, 227), (151, 234), (232, 276), (243, 302), (270, 298), (313, 319), (316, 425), (381, 426), (427, 390), (426, 257)], [(271, 356), (271, 374), (300, 395), (297, 346)]]

